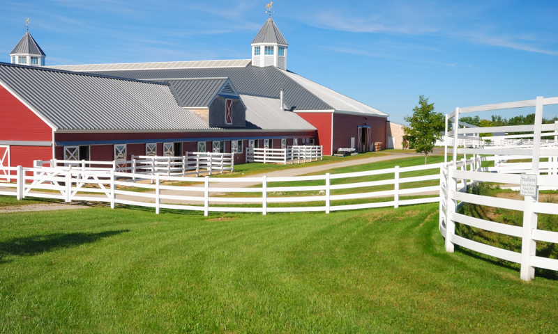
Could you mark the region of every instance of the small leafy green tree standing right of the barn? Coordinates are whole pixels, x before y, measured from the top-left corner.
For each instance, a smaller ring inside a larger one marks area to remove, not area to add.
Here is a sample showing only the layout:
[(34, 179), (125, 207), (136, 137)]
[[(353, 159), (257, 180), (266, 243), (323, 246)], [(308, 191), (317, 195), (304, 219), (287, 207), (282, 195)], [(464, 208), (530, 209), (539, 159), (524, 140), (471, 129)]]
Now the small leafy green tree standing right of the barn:
[(409, 127), (405, 127), (405, 135), (414, 141), (417, 153), (424, 154), (424, 164), (428, 153), (434, 149), (434, 144), (442, 138), (445, 128), (445, 120), (442, 113), (434, 111), (434, 104), (428, 104), (424, 95), (418, 96), (418, 105), (413, 108), (412, 116), (405, 116)]

